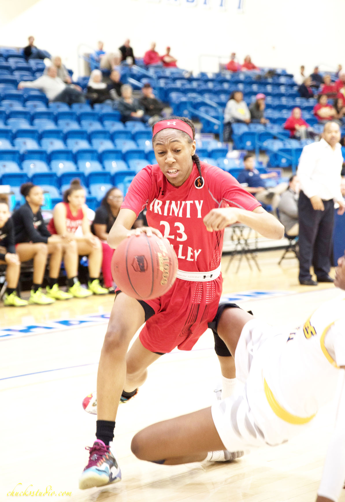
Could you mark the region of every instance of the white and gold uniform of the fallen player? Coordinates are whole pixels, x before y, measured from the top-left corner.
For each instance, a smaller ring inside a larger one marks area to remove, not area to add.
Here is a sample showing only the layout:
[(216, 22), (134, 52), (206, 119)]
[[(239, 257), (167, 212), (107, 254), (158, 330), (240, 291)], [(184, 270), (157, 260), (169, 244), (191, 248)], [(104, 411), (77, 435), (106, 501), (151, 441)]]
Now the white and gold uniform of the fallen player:
[(235, 364), (237, 378), (245, 383), (243, 393), (212, 407), (218, 434), (229, 451), (275, 446), (299, 434), (332, 400), (342, 379), (318, 492), (336, 500), (345, 479), (345, 371), (340, 369), (345, 366), (345, 297), (322, 304), (292, 333), (250, 320), (238, 341)]

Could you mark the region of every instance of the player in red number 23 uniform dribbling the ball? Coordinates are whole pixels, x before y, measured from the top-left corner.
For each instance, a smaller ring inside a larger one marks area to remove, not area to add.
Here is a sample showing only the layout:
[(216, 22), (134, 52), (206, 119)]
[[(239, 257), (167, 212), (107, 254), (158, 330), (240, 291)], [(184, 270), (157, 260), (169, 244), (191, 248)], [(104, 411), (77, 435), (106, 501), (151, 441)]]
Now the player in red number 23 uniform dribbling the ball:
[[(141, 231), (163, 234), (177, 254), (178, 278), (154, 300), (137, 301), (122, 292), (115, 298), (98, 367), (97, 440), (80, 478), (81, 489), (121, 478), (109, 447), (120, 398), (129, 399), (137, 392), (146, 379), (146, 368), (160, 355), (175, 347), (191, 350), (214, 320), (222, 293), (224, 228), (240, 221), (266, 237), (281, 238), (284, 233), (279, 221), (235, 178), (199, 161), (189, 119), (157, 122), (152, 144), (158, 164), (146, 166), (133, 179), (108, 243), (116, 248), (128, 235)], [(150, 227), (130, 230), (144, 206)]]

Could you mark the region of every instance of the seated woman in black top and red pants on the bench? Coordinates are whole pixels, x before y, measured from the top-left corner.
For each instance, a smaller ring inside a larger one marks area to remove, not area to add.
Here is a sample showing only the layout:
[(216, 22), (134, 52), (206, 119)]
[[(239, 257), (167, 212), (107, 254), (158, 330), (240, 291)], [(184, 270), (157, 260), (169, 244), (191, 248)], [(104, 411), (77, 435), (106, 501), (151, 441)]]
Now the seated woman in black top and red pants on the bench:
[[(110, 228), (113, 226), (114, 221), (119, 213), (121, 204), (123, 202), (123, 195), (121, 190), (117, 187), (111, 187), (102, 199), (101, 205), (96, 210), (95, 219), (91, 225), (91, 231), (101, 241), (103, 248), (103, 261), (102, 273), (104, 286), (108, 289), (109, 293), (114, 293), (113, 279), (111, 276), (110, 264), (114, 249), (107, 243)], [(141, 213), (140, 213), (141, 214)], [(133, 228), (142, 226), (142, 219), (140, 214), (134, 222)]]

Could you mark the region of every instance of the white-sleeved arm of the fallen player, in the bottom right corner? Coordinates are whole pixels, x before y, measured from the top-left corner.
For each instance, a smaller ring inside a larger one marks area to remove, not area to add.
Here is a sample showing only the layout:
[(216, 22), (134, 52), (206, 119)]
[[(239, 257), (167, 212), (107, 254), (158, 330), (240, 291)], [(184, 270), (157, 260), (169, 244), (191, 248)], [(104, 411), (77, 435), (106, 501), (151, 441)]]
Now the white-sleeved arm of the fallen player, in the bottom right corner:
[(345, 479), (345, 370), (338, 400), (336, 422), (323, 466), (317, 494), (330, 500), (338, 500)]

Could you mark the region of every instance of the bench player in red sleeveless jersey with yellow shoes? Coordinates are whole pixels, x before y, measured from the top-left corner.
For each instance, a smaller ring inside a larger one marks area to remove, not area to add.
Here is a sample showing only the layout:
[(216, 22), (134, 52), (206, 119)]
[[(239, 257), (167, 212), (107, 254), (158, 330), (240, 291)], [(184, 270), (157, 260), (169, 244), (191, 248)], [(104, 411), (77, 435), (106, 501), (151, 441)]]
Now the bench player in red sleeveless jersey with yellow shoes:
[[(48, 224), (49, 231), (55, 235), (75, 242), (78, 255), (88, 257), (89, 281), (88, 293), (105, 295), (106, 288), (99, 284), (99, 274), (102, 265), (102, 245), (100, 240), (91, 233), (85, 204), (85, 190), (79, 179), (71, 181), (71, 186), (64, 192), (63, 202), (54, 207), (53, 218)], [(81, 231), (78, 228), (81, 227)], [(80, 283), (77, 283), (78, 287)], [(70, 287), (69, 291), (74, 288)], [(80, 289), (80, 288), (79, 288)], [(72, 291), (71, 291), (72, 293)]]

